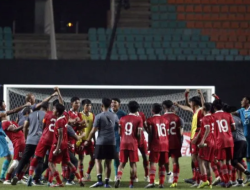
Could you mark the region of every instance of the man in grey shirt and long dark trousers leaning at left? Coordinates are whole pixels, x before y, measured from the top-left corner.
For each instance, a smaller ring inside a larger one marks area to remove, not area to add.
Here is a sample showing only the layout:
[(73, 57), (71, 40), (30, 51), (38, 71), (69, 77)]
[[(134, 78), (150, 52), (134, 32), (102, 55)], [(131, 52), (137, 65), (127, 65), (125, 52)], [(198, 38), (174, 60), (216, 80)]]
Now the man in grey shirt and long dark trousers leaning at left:
[[(41, 138), (43, 130), (43, 118), (48, 109), (48, 102), (44, 102), (40, 106), (40, 110), (32, 112), (28, 120), (25, 121), (23, 133), (26, 139), (26, 146), (21, 160), (16, 169), (16, 176), (13, 177), (11, 184), (16, 185), (24, 175), (24, 168), (28, 165), (30, 158), (34, 155), (37, 144)], [(42, 185), (42, 183), (39, 183)]]

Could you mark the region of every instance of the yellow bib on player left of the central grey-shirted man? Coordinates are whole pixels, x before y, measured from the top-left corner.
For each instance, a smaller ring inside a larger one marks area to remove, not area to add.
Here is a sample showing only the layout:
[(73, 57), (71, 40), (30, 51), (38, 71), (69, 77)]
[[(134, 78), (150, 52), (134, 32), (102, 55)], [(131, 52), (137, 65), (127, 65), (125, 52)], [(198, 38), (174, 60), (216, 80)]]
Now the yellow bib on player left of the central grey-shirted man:
[(82, 141), (85, 141), (88, 139), (89, 133), (92, 130), (93, 124), (94, 124), (94, 119), (95, 115), (91, 112), (89, 112), (89, 115), (86, 115), (85, 113), (81, 112), (80, 113), (82, 116), (82, 120), (85, 121), (86, 127), (82, 129), (81, 133), (85, 133), (85, 137), (83, 137), (81, 140), (76, 142), (76, 146), (80, 146)]

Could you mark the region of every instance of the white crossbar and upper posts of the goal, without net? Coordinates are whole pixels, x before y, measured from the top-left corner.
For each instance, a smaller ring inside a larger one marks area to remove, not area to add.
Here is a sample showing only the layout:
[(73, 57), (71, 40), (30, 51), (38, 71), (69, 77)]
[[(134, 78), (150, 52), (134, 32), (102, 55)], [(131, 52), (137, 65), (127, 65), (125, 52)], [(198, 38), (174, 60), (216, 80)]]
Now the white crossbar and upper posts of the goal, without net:
[[(37, 88), (37, 89), (53, 89), (55, 86), (60, 89), (119, 89), (119, 90), (196, 90), (196, 89), (209, 89), (211, 90), (211, 95), (215, 93), (215, 86), (136, 86), (136, 85), (30, 85), (30, 84), (5, 84), (3, 86), (4, 101), (9, 102), (8, 88)], [(212, 102), (214, 98), (211, 98)], [(7, 109), (9, 105), (7, 104)]]

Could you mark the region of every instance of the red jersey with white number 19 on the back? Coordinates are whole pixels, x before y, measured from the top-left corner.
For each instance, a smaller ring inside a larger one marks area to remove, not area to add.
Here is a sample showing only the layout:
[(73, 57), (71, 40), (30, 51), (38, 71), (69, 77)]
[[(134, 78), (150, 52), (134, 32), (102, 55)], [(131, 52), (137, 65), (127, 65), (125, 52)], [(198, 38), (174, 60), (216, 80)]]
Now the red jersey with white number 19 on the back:
[(234, 147), (233, 136), (231, 132), (231, 125), (234, 120), (231, 114), (217, 111), (213, 114), (214, 117), (214, 131), (216, 135), (216, 148), (222, 149), (227, 147)]

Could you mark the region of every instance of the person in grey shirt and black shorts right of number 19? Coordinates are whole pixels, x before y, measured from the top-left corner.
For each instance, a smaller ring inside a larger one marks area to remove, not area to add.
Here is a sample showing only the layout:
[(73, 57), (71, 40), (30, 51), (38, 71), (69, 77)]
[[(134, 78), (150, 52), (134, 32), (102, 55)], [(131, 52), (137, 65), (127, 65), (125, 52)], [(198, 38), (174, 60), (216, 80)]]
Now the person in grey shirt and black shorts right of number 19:
[[(236, 112), (237, 109), (234, 106), (224, 105), (223, 110), (227, 113)], [(234, 183), (234, 187), (244, 187), (242, 173), (245, 175), (250, 175), (250, 172), (245, 169), (243, 164), (243, 158), (246, 156), (247, 152), (247, 142), (246, 137), (244, 136), (244, 129), (241, 122), (241, 119), (233, 115), (233, 120), (235, 121), (235, 127), (236, 130), (232, 132), (233, 139), (234, 139), (234, 156), (232, 160), (232, 165), (234, 167), (234, 170), (239, 170), (238, 172), (238, 179), (236, 181), (236, 175), (234, 176), (235, 179), (232, 179), (232, 183)], [(233, 178), (233, 175), (232, 175)]]

